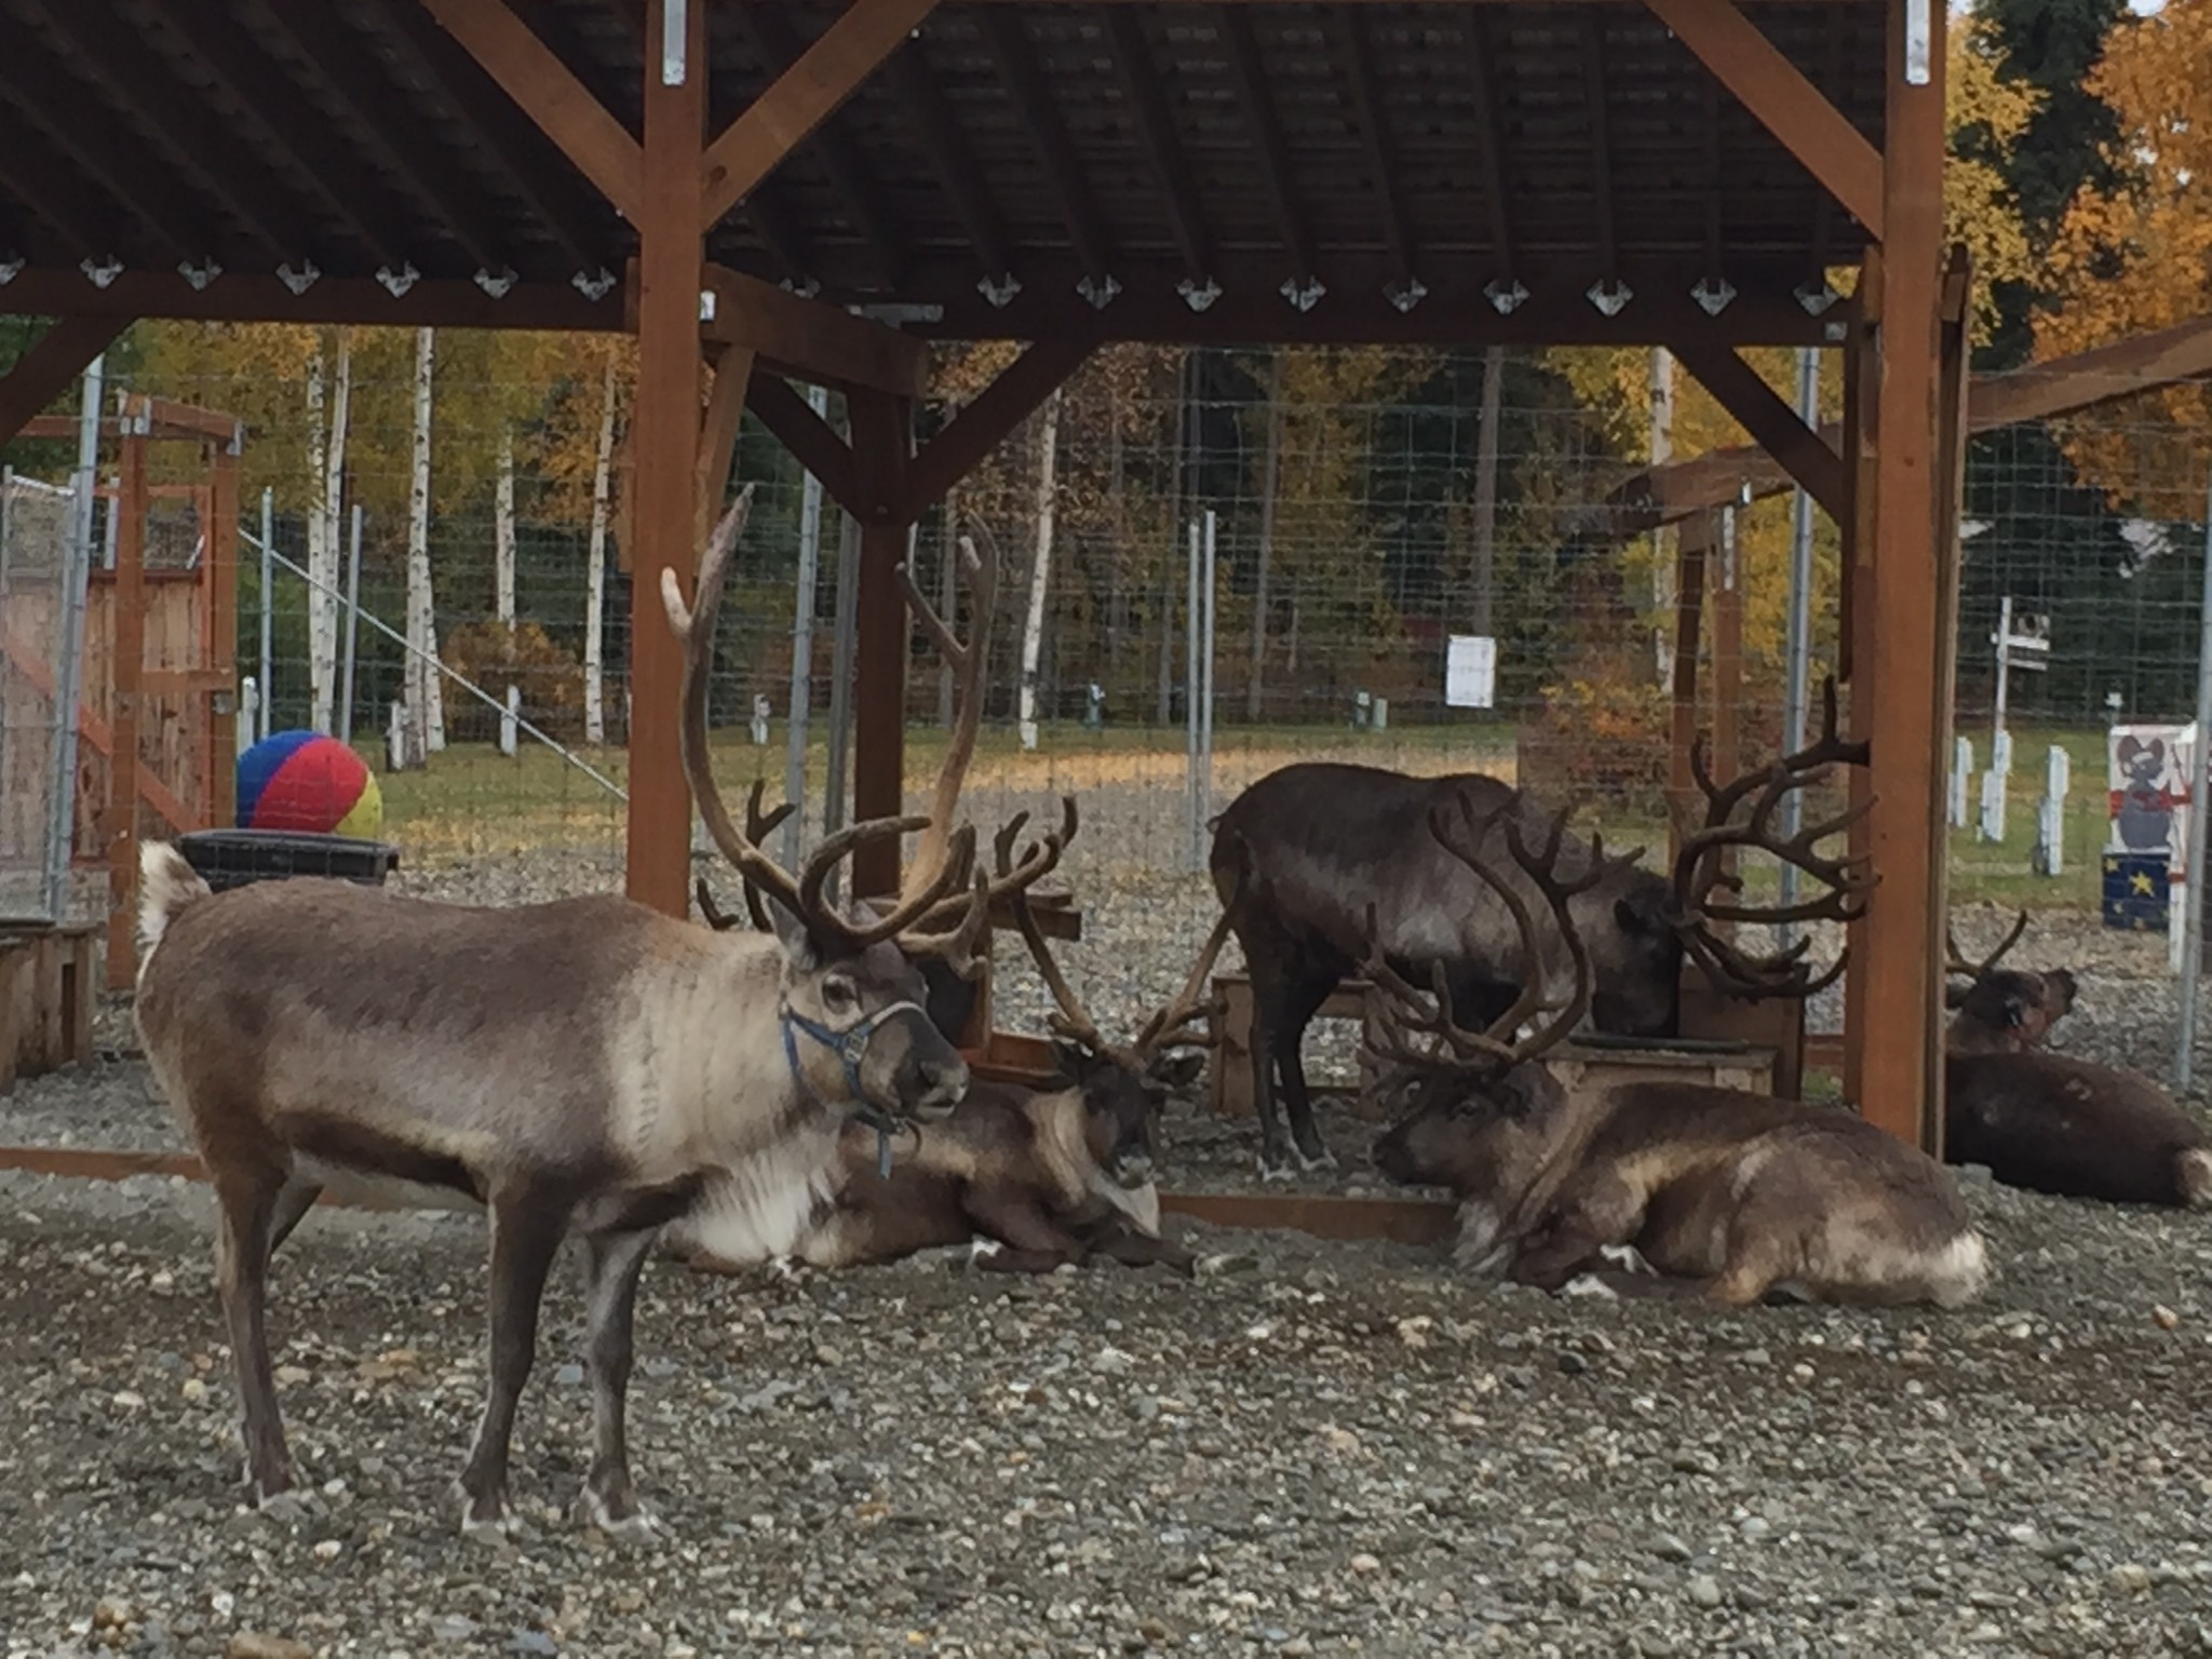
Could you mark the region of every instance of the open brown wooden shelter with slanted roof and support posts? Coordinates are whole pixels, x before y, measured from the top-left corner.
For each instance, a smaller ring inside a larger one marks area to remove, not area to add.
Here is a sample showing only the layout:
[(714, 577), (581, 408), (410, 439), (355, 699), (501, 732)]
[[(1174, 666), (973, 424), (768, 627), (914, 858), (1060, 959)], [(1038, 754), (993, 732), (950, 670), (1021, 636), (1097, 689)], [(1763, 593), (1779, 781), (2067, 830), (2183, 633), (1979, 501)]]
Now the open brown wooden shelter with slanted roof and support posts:
[[(668, 911), (655, 588), (741, 407), (863, 524), (874, 816), (907, 529), (1097, 345), (1670, 347), (1849, 538), (1882, 872), (1851, 1093), (1940, 1121), (1969, 272), (1933, 0), (20, 0), (0, 44), (0, 305), (62, 319), (0, 436), (135, 316), (635, 327), (628, 889)], [(1029, 345), (916, 451), (927, 338)], [(1767, 343), (1843, 349), (1840, 445), (1736, 352)], [(847, 394), (849, 445), (792, 378)], [(876, 852), (860, 891), (896, 880)]]

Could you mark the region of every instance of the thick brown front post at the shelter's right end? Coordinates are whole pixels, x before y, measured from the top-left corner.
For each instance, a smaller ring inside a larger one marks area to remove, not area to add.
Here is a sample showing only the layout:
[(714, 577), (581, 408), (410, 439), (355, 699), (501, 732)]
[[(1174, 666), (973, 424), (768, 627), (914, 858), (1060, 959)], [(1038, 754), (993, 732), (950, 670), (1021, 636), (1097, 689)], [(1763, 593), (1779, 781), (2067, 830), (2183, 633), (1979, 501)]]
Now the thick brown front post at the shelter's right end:
[[(1942, 281), (1944, 31), (1929, 33), (1929, 77), (1905, 80), (1907, 0), (1889, 7), (1889, 119), (1882, 157), (1882, 383), (1874, 396), (1880, 487), (1874, 502), (1874, 810), (1880, 885), (1867, 905), (1860, 1113), (1922, 1141), (1942, 1110), (1944, 918), (1931, 827), (1942, 805), (1938, 712), (1942, 562), (1936, 555), (1938, 305)], [(1854, 703), (1858, 699), (1854, 697)]]

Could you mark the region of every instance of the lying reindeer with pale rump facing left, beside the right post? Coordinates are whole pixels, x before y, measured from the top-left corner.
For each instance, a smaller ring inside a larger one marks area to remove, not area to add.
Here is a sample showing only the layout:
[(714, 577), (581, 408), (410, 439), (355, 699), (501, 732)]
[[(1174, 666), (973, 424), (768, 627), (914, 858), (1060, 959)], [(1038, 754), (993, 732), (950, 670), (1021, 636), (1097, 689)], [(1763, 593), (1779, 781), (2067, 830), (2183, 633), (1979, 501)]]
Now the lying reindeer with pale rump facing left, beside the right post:
[[(1557, 1002), (1537, 989), (1544, 933), (1484, 860), (1484, 827), (1464, 799), (1431, 814), (1438, 845), (1513, 916), (1531, 962), (1522, 998), (1469, 1031), (1442, 973), (1420, 991), (1380, 956), (1367, 964), (1385, 993), (1383, 1053), (1411, 1097), (1376, 1144), (1376, 1168), (1458, 1194), (1460, 1263), (1559, 1290), (1628, 1250), (1659, 1290), (1725, 1305), (1785, 1294), (1955, 1307), (1980, 1294), (1986, 1250), (1949, 1172), (1851, 1113), (1677, 1082), (1571, 1095), (1540, 1060), (1573, 1031), (1595, 978), (1571, 900), (1628, 860), (1608, 865), (1593, 841), (1564, 876), (1564, 814), (1540, 849), (1506, 818), (1504, 845), (1571, 958), (1573, 989)], [(1515, 1037), (1531, 1015), (1537, 1029)]]

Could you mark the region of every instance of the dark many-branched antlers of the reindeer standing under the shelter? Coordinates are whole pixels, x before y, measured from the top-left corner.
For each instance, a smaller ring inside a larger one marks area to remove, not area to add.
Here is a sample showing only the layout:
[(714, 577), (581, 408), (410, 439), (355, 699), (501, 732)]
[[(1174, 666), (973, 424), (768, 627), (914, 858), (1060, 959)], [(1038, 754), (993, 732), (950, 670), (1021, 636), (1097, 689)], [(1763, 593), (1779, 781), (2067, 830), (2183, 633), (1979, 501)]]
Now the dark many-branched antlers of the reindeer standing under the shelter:
[[(1874, 799), (1845, 807), (1834, 818), (1807, 823), (1792, 836), (1783, 836), (1774, 827), (1774, 810), (1790, 790), (1818, 783), (1838, 763), (1867, 765), (1867, 743), (1845, 741), (1836, 732), (1834, 675), (1820, 688), (1820, 737), (1796, 754), (1783, 754), (1772, 765), (1721, 785), (1712, 781), (1705, 765), (1705, 739), (1699, 737), (1690, 745), (1690, 772), (1705, 796), (1705, 823), (1688, 832), (1674, 854), (1672, 922), (1683, 949), (1719, 989), (1745, 998), (1809, 998), (1843, 973), (1845, 953), (1838, 951), (1836, 962), (1814, 978), (1812, 964), (1803, 960), (1805, 951), (1812, 949), (1809, 936), (1798, 938), (1787, 949), (1756, 956), (1719, 933), (1717, 925), (1856, 922), (1865, 916), (1867, 894), (1876, 883), (1871, 858), (1849, 854), (1832, 858), (1818, 845), (1863, 818), (1874, 807)], [(1745, 801), (1752, 801), (1752, 810), (1739, 823), (1736, 810)], [(1767, 852), (1812, 876), (1825, 891), (1796, 905), (1714, 902), (1714, 891), (1743, 891), (1743, 880), (1728, 872), (1728, 854), (1736, 847)]]

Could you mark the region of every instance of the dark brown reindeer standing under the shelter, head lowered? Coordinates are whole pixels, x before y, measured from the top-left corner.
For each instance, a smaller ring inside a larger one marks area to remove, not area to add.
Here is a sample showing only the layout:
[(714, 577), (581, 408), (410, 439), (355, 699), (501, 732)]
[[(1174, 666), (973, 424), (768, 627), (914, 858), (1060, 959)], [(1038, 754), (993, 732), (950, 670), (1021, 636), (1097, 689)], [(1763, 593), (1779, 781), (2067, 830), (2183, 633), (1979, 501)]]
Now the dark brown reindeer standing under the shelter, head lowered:
[[(1699, 834), (1683, 841), (1686, 867), (1670, 883), (1657, 872), (1617, 865), (1601, 880), (1575, 887), (1575, 927), (1590, 940), (1590, 1020), (1597, 1031), (1655, 1037), (1677, 1026), (1681, 960), (1688, 953), (1732, 995), (1812, 995), (1834, 978), (1814, 980), (1801, 962), (1803, 949), (1774, 958), (1739, 951), (1717, 922), (1754, 916), (1739, 907), (1686, 905), (1686, 891), (1708, 894), (1721, 883), (1721, 856), (1708, 852), (1712, 834), (1759, 787), (1767, 774), (1750, 774), (1719, 787), (1705, 770), (1703, 741), (1690, 752), (1692, 772), (1708, 801)], [(1774, 799), (1792, 781), (1834, 761), (1865, 763), (1865, 743), (1836, 737), (1836, 684), (1825, 688), (1825, 728), (1807, 750), (1790, 757)], [(1230, 927), (1243, 947), (1252, 975), (1252, 1097), (1259, 1110), (1259, 1168), (1265, 1179), (1290, 1175), (1290, 1150), (1307, 1168), (1334, 1168), (1336, 1159), (1314, 1126), (1312, 1093), (1301, 1046), (1305, 1026), (1329, 991), (1367, 956), (1369, 918), (1378, 925), (1383, 951), (1394, 969), (1411, 978), (1442, 971), (1453, 1004), (1478, 1020), (1493, 1020), (1524, 989), (1522, 962), (1513, 953), (1513, 920), (1491, 889), (1444, 856), (1425, 825), (1438, 810), (1471, 801), (1489, 825), (1517, 823), (1522, 834), (1540, 834), (1551, 816), (1533, 796), (1498, 779), (1458, 772), (1416, 779), (1371, 765), (1312, 761), (1285, 765), (1259, 779), (1214, 821), (1212, 872)], [(1770, 814), (1774, 801), (1763, 801)], [(1809, 825), (1770, 849), (1825, 883), (1818, 898), (1790, 911), (1759, 911), (1759, 920), (1851, 920), (1849, 883), (1836, 883), (1834, 860), (1814, 847), (1851, 814)], [(1484, 854), (1495, 863), (1498, 830), (1486, 830)], [(1575, 836), (1566, 836), (1571, 869), (1588, 858)], [(1719, 847), (1721, 843), (1712, 843)], [(1232, 854), (1232, 847), (1241, 852)], [(1243, 898), (1232, 902), (1232, 883), (1243, 863), (1252, 865)], [(1520, 885), (1517, 876), (1511, 876)], [(1526, 891), (1526, 889), (1524, 889)], [(1540, 962), (1557, 975), (1564, 945), (1542, 940)], [(1274, 1079), (1281, 1075), (1290, 1106), (1290, 1139), (1276, 1113)]]

